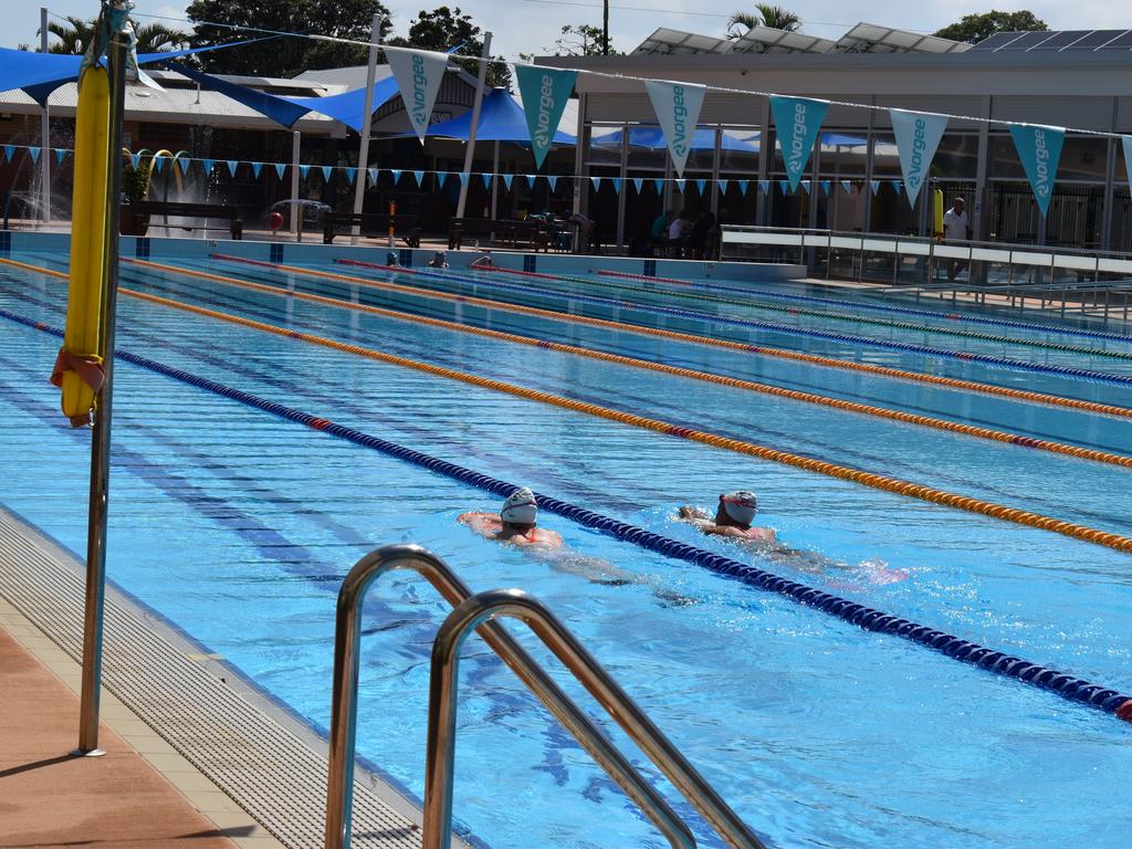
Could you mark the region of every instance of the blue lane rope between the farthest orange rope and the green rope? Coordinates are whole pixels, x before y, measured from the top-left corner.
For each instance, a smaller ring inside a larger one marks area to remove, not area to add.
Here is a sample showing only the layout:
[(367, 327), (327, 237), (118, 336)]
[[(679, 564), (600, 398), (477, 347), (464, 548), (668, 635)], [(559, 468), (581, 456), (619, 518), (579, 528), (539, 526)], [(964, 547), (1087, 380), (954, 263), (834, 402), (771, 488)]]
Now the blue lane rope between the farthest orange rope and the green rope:
[[(365, 267), (365, 266), (362, 266)], [(394, 272), (395, 273), (395, 272)], [(978, 362), (987, 366), (1001, 366), (1004, 368), (1020, 369), (1022, 371), (1037, 371), (1049, 375), (1061, 375), (1063, 377), (1084, 378), (1087, 380), (1099, 380), (1101, 383), (1114, 383), (1122, 386), (1132, 385), (1132, 375), (1114, 375), (1107, 371), (1094, 371), (1091, 369), (1075, 369), (1067, 366), (1048, 366), (1026, 360), (1012, 360), (1005, 357), (993, 357), (992, 354), (968, 353), (966, 351), (952, 351), (946, 348), (932, 348), (928, 345), (916, 345), (910, 342), (893, 342), (890, 340), (878, 340), (872, 336), (857, 336), (848, 333), (834, 333), (832, 331), (815, 331), (805, 327), (791, 327), (789, 325), (772, 324), (770, 321), (756, 321), (749, 318), (731, 318), (711, 312), (702, 312), (693, 309), (681, 309), (679, 307), (661, 307), (654, 305), (642, 305), (634, 301), (618, 301), (612, 298), (601, 298), (590, 294), (574, 294), (559, 292), (554, 289), (542, 289), (541, 286), (526, 286), (521, 283), (500, 283), (495, 281), (482, 281), (473, 277), (463, 277), (455, 274), (437, 274), (418, 268), (412, 269), (413, 276), (423, 276), (446, 282), (465, 283), (472, 285), (505, 289), (531, 294), (543, 294), (566, 301), (581, 301), (583, 303), (598, 303), (603, 307), (618, 307), (620, 309), (633, 309), (641, 312), (661, 312), (680, 318), (696, 318), (715, 324), (735, 325), (739, 327), (753, 327), (763, 331), (774, 331), (795, 336), (811, 336), (832, 342), (852, 342), (855, 344), (872, 345), (874, 348), (889, 348), (895, 351), (910, 351), (912, 353), (932, 354), (933, 357), (944, 357), (951, 360), (963, 362)], [(566, 317), (568, 320), (568, 316)]]

